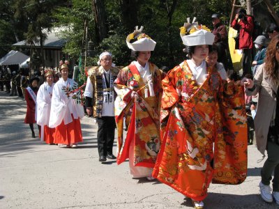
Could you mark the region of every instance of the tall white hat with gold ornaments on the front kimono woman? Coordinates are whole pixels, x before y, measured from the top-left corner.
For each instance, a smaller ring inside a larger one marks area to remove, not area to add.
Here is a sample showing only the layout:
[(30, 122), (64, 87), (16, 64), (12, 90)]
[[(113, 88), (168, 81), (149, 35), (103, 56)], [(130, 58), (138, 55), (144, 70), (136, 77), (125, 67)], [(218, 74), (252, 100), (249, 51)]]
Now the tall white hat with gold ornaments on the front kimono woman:
[(188, 22), (184, 23), (184, 26), (180, 28), (180, 36), (184, 45), (213, 45), (215, 36), (206, 26), (199, 25), (198, 22), (195, 22), (195, 17), (192, 24), (190, 24), (189, 17), (187, 20)]

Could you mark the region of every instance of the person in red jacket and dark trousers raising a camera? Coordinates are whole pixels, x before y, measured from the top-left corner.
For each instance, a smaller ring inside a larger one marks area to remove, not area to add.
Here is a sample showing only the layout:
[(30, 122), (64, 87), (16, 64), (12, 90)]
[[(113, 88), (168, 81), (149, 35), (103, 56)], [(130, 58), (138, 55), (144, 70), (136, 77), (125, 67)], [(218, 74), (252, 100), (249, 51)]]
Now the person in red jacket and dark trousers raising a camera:
[(252, 33), (254, 30), (254, 20), (252, 17), (246, 15), (246, 10), (240, 8), (236, 11), (236, 16), (232, 21), (232, 28), (239, 31), (239, 49), (242, 49), (243, 74), (252, 74), (251, 60), (252, 60)]

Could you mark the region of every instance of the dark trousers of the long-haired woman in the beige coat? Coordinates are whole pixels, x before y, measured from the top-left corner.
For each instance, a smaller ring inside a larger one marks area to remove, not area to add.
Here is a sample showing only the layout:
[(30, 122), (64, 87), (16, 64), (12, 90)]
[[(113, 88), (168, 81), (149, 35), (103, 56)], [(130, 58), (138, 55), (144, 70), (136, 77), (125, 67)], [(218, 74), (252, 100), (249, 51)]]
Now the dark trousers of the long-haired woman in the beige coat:
[(262, 167), (261, 176), (262, 183), (269, 185), (274, 171), (273, 192), (279, 192), (279, 145), (267, 141), (267, 160)]

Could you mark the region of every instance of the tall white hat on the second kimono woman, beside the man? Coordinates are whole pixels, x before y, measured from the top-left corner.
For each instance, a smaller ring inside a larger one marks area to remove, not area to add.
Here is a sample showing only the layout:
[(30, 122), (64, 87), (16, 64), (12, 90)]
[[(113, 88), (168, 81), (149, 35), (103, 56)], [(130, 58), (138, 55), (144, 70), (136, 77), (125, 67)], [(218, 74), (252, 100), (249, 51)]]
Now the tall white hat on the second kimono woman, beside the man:
[[(145, 33), (142, 33), (143, 29), (143, 26), (140, 26), (140, 29), (136, 26), (135, 31), (127, 36), (126, 43), (129, 49), (132, 49), (133, 51), (154, 51), (156, 42)], [(131, 42), (133, 40), (135, 40), (135, 42)]]

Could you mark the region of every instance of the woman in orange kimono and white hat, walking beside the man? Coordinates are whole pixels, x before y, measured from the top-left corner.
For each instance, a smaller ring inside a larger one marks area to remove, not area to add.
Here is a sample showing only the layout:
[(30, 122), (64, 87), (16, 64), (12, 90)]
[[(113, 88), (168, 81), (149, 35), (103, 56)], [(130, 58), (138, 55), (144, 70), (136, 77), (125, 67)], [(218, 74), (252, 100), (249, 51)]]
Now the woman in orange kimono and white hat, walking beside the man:
[[(130, 173), (134, 178), (146, 177), (152, 180), (153, 167), (160, 149), (163, 72), (149, 63), (156, 42), (142, 33), (142, 29), (136, 28), (126, 40), (137, 61), (123, 68), (114, 82), (117, 93), (114, 103), (118, 130), (117, 164), (129, 158)], [(124, 140), (123, 118), (126, 118), (128, 127)]]

